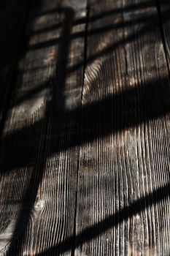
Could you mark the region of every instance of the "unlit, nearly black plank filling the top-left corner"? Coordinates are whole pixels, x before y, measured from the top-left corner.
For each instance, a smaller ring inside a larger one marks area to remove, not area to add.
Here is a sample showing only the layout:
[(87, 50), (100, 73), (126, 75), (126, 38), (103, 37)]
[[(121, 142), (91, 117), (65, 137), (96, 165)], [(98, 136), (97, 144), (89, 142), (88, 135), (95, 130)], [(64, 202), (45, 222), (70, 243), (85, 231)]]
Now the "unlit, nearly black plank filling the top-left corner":
[(14, 88), (15, 67), (23, 38), (29, 0), (1, 1), (0, 4), (0, 124), (3, 128), (9, 106), (9, 97)]

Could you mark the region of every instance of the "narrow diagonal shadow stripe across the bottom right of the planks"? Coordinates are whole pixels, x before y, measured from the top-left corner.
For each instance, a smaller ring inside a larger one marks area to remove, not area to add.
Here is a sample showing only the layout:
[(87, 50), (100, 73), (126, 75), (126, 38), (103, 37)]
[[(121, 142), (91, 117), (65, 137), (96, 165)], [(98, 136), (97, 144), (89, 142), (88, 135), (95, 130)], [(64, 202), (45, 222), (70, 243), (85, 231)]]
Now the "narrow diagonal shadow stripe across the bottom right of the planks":
[[(136, 214), (144, 211), (146, 208), (153, 206), (155, 203), (159, 203), (163, 199), (167, 199), (170, 193), (170, 184), (165, 185), (159, 189), (156, 189), (150, 194), (136, 200), (130, 206), (126, 206), (122, 210), (118, 211), (117, 213), (105, 218), (101, 222), (88, 227), (87, 229), (83, 230), (82, 233), (76, 236), (76, 247), (81, 246), (85, 242), (92, 240), (100, 236), (105, 231), (109, 230), (110, 228), (118, 225), (120, 222), (123, 222)], [(72, 248), (72, 242), (74, 238), (70, 237), (61, 242), (56, 246), (53, 246), (45, 252), (41, 252), (38, 256), (45, 256), (45, 255), (55, 255), (58, 252), (58, 248), (63, 248), (63, 252), (69, 251)]]

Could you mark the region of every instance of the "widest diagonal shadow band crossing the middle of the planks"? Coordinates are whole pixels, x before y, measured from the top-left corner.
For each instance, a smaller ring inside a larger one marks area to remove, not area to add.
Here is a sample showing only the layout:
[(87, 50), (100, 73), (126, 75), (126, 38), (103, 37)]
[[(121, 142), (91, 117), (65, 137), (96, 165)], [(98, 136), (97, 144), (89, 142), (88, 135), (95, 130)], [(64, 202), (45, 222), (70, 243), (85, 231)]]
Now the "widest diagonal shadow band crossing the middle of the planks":
[[(169, 79), (162, 78), (162, 80), (155, 79), (155, 81), (152, 80), (152, 83), (148, 81), (147, 84), (138, 85), (101, 101), (84, 105), (82, 109), (65, 110), (62, 115), (56, 112), (53, 105), (51, 105), (49, 107), (51, 133), (55, 135), (57, 141), (60, 141), (60, 138), (64, 136), (64, 131), (61, 127), (66, 127), (66, 124), (72, 124), (73, 126), (69, 130), (70, 138), (67, 141), (63, 140), (63, 143), (56, 143), (54, 140), (51, 142), (50, 152), (47, 153), (47, 157), (66, 148), (79, 145), (80, 136), (76, 132), (77, 129), (75, 129), (74, 124), (77, 124), (80, 116), (87, 120), (84, 122), (84, 127), (82, 127), (81, 138), (81, 143), (86, 143), (169, 114), (169, 94)], [(133, 113), (129, 112), (129, 108), (136, 108), (137, 98), (139, 113), (136, 116), (135, 111)], [(43, 122), (45, 120), (40, 119), (34, 124), (10, 132), (9, 135), (1, 140), (1, 146), (5, 147), (4, 162), (1, 162), (0, 165), (1, 173), (9, 172), (18, 167), (34, 165), (34, 156), (36, 154), (34, 141), (38, 143), (41, 138), (36, 130), (42, 127)], [(31, 141), (30, 134), (32, 136)], [(18, 141), (18, 151), (13, 151), (16, 141)], [(26, 157), (25, 148), (30, 148)]]

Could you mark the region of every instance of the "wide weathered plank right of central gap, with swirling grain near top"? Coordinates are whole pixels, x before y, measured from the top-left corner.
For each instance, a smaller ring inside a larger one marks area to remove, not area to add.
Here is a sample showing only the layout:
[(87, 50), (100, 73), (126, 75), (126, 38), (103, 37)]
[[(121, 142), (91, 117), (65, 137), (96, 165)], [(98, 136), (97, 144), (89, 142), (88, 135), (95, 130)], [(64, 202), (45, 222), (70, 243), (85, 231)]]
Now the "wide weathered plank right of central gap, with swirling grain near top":
[(170, 88), (155, 2), (90, 1), (89, 15), (75, 255), (169, 255)]

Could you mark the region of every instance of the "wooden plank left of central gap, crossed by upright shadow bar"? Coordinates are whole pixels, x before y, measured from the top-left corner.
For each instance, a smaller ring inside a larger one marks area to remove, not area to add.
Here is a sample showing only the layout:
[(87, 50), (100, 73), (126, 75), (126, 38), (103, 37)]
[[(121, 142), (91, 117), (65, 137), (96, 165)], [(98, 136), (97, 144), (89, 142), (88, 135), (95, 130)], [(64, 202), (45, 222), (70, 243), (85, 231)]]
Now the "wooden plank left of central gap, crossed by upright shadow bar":
[[(69, 70), (84, 59), (85, 4), (43, 0), (29, 12), (0, 148), (3, 255), (74, 251), (79, 145), (72, 147), (72, 140), (80, 136), (74, 109), (81, 104), (84, 67)], [(60, 243), (69, 236), (66, 249)]]

